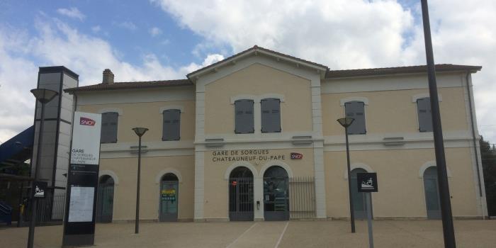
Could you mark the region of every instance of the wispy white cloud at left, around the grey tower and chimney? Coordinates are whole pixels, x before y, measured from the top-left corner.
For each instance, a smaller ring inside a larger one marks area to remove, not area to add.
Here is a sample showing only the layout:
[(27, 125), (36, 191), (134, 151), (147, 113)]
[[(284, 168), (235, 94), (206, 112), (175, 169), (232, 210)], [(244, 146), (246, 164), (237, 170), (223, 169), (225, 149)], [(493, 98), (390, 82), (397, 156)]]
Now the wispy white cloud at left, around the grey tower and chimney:
[(169, 67), (154, 54), (143, 55), (139, 65), (119, 59), (111, 44), (101, 38), (79, 33), (67, 23), (38, 18), (37, 35), (0, 26), (0, 141), (33, 125), (35, 99), (29, 90), (36, 87), (38, 66), (64, 65), (77, 72), (79, 85), (98, 84), (101, 72), (112, 69), (115, 81), (181, 79), (193, 70), (222, 55), (208, 55), (202, 64)]

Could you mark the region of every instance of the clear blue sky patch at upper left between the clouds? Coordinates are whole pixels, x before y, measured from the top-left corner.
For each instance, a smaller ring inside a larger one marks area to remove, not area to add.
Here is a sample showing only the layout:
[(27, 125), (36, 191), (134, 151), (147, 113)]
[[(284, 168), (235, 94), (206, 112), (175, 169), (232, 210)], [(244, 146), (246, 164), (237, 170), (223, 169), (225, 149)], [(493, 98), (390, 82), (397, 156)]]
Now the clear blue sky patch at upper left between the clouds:
[[(4, 1), (0, 6), (1, 23), (36, 35), (37, 18), (59, 18), (81, 33), (108, 40), (120, 58), (132, 64), (139, 64), (147, 53), (173, 66), (203, 60), (191, 54), (201, 43), (201, 36), (181, 28), (170, 15), (147, 1)], [(64, 16), (57, 11), (72, 8), (84, 17)], [(160, 33), (152, 36), (152, 28), (159, 28)]]

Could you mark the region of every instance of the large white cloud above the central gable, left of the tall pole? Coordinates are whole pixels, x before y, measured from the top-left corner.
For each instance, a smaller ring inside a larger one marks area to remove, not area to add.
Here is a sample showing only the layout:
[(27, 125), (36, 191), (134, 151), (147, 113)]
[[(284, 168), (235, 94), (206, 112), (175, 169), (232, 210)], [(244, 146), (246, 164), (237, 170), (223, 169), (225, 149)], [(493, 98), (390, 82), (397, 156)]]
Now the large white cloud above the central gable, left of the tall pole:
[(398, 64), (410, 11), (395, 1), (157, 1), (208, 43), (260, 45), (333, 68)]

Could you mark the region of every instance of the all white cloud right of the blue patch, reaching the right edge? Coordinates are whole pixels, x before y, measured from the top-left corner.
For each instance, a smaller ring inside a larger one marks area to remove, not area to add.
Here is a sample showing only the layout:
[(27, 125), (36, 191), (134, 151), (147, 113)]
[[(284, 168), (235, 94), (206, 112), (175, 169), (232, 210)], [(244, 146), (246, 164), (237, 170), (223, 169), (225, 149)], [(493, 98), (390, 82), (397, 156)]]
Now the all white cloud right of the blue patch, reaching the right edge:
[[(152, 0), (205, 38), (195, 54), (261, 45), (332, 69), (425, 64), (419, 4), (363, 0)], [(473, 75), (479, 125), (495, 125), (496, 1), (429, 1), (436, 63), (483, 65)], [(419, 21), (414, 21), (415, 16)], [(480, 128), (496, 142), (496, 125)]]

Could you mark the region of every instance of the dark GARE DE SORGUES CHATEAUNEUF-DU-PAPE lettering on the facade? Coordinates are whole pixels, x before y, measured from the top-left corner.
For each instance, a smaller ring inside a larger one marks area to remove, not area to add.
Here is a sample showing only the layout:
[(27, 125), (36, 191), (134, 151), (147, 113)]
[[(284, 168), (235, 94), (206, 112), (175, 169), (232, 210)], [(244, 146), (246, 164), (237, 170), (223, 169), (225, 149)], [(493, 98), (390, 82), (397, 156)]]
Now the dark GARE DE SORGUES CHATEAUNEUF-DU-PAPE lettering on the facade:
[(254, 150), (230, 150), (230, 151), (213, 151), (212, 162), (257, 162), (270, 160), (285, 160), (286, 154), (283, 152), (273, 152), (266, 149)]

